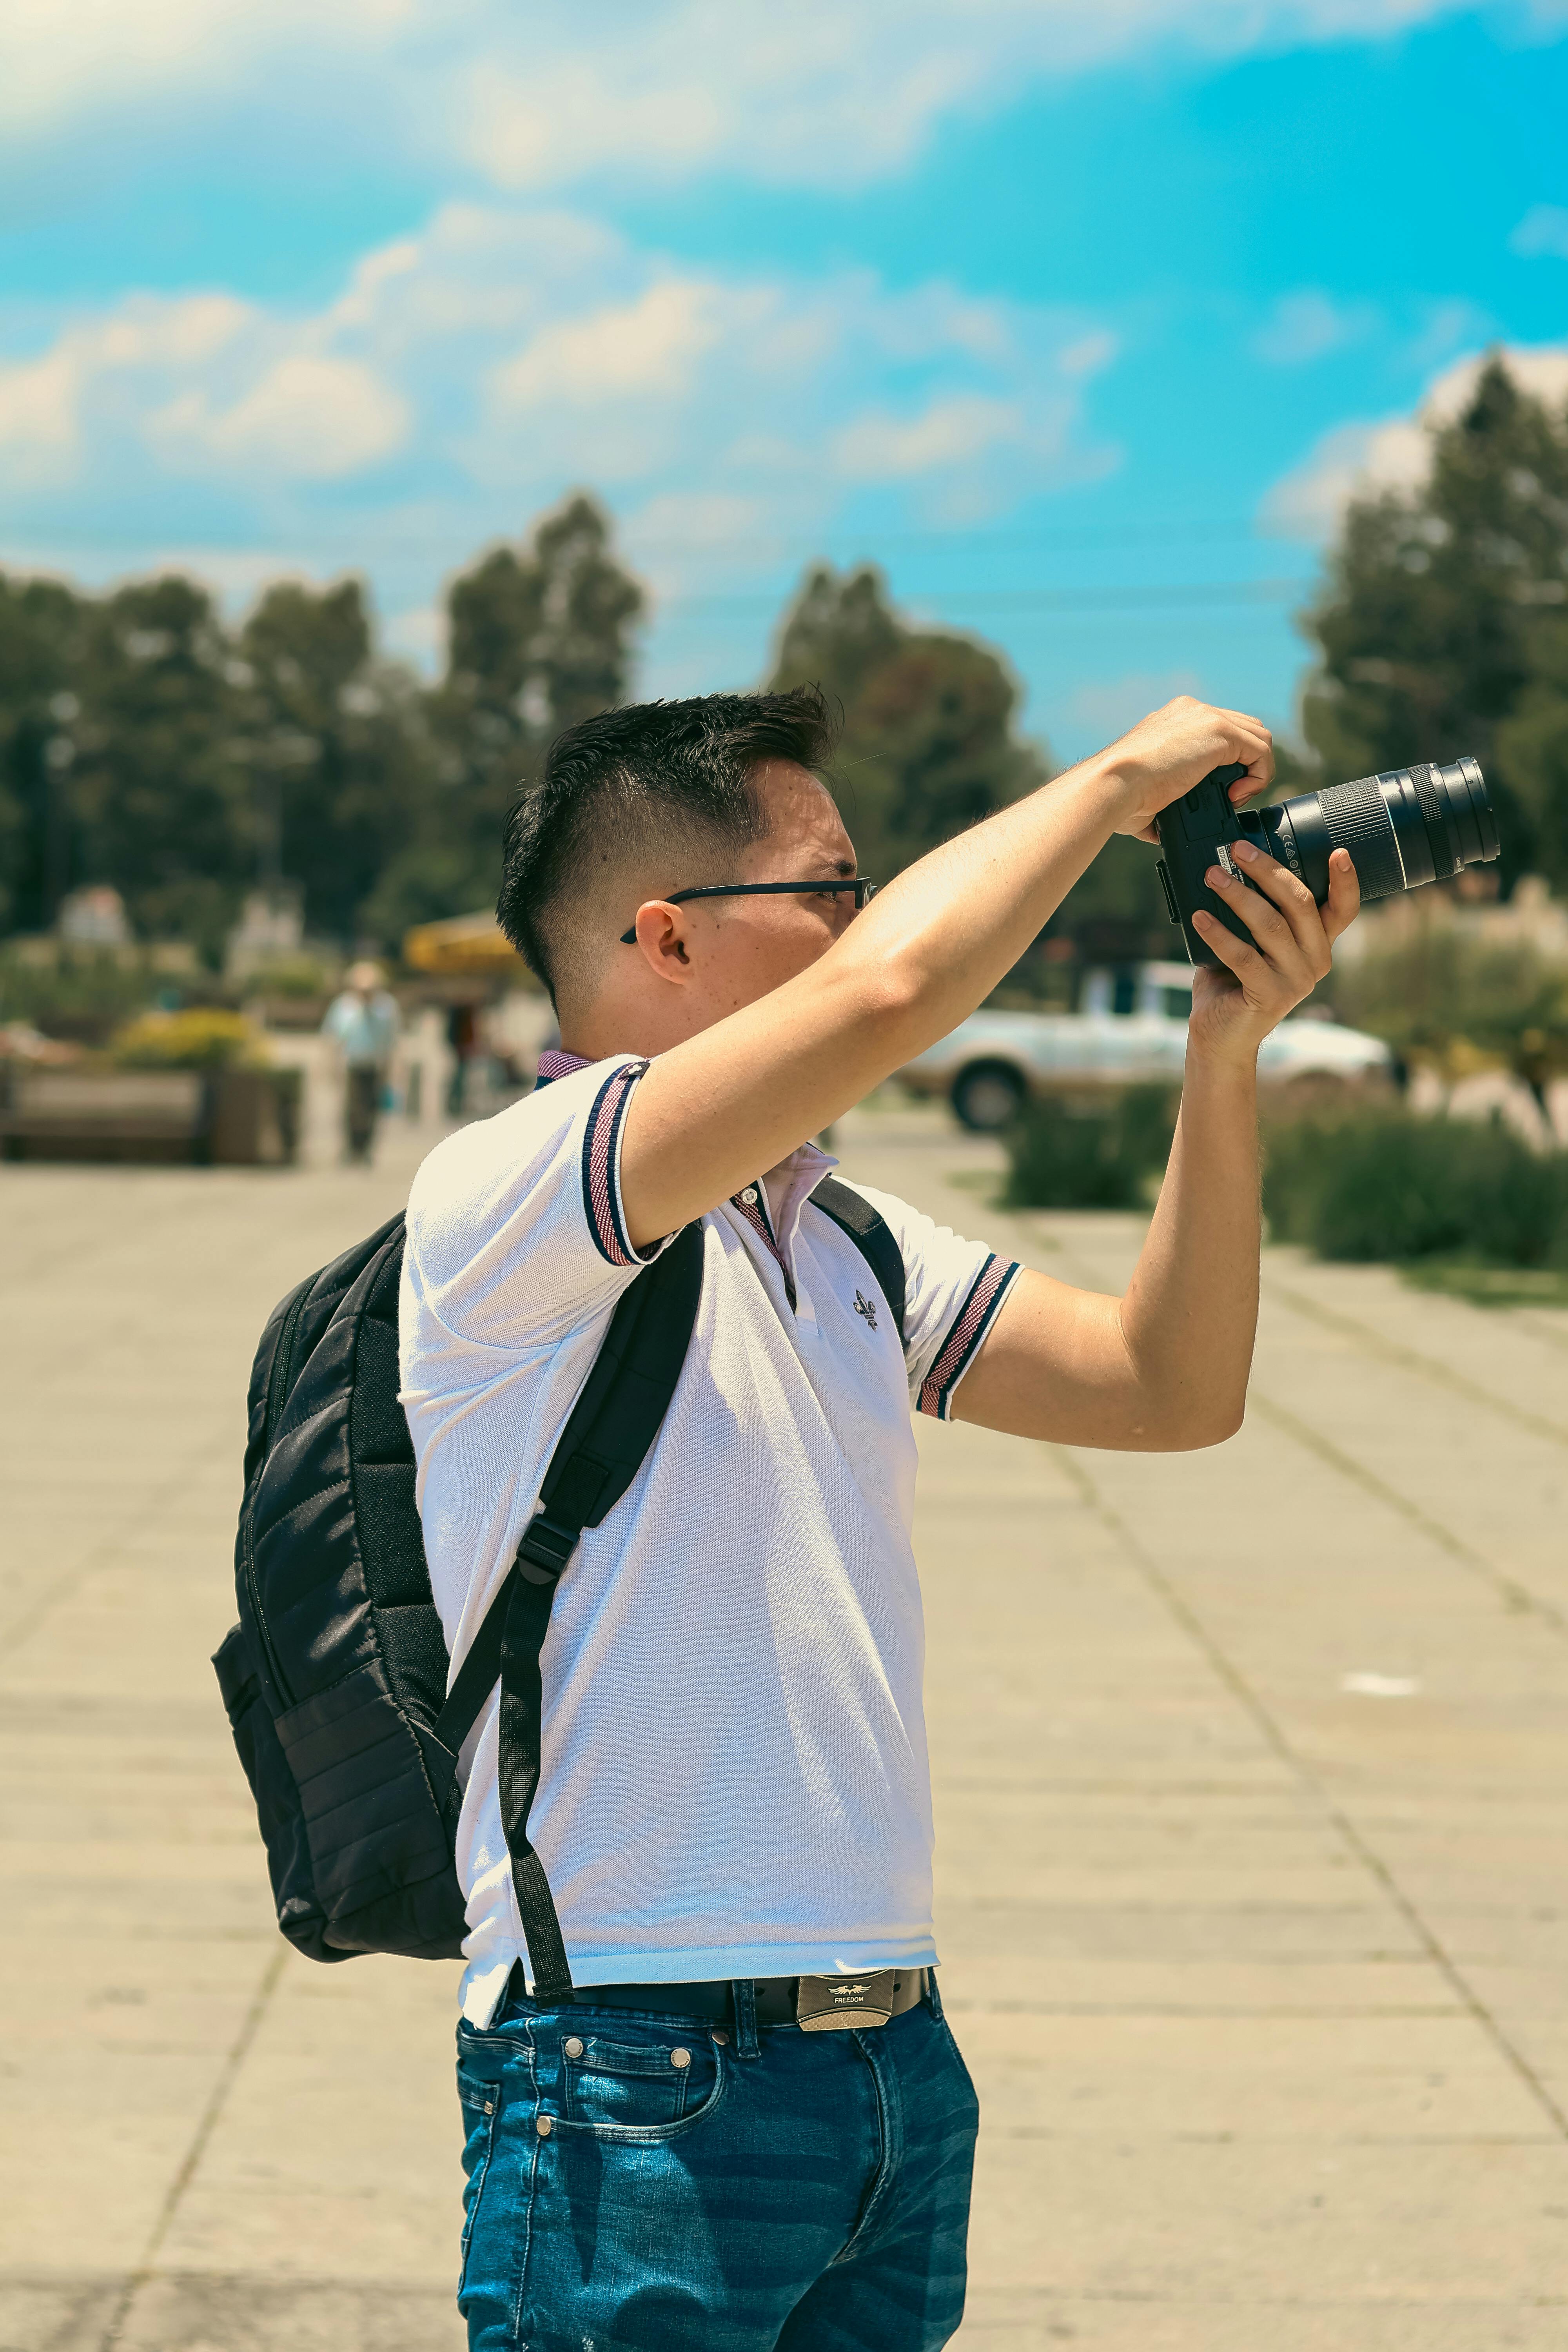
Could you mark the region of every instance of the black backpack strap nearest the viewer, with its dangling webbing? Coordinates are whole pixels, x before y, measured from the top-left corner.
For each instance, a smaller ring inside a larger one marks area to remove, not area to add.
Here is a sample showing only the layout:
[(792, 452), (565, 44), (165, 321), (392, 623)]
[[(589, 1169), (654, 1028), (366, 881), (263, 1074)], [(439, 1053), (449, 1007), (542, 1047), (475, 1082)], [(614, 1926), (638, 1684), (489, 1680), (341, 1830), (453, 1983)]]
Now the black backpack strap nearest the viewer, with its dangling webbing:
[(538, 1788), (538, 1653), (578, 1536), (621, 1501), (658, 1437), (703, 1294), (703, 1228), (686, 1225), (621, 1296), (545, 1470), (538, 1510), (447, 1693), (435, 1736), (456, 1764), (501, 1677), (501, 1820), (538, 1999), (571, 1999), (571, 1969), (543, 1863), (529, 1844)]

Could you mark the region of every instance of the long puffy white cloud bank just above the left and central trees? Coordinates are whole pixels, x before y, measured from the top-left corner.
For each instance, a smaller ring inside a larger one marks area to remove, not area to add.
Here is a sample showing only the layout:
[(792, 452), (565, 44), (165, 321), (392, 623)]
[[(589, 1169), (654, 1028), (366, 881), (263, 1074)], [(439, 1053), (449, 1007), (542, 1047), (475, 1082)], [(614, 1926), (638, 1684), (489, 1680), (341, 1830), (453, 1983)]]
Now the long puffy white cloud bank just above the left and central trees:
[(1112, 355), (1077, 310), (682, 270), (578, 214), (463, 202), (303, 315), (134, 296), (0, 355), (0, 452), (28, 459), (19, 536), (71, 510), (143, 541), (221, 515), (299, 546), (329, 517), (355, 560), (418, 546), (428, 576), (574, 482), (649, 534), (679, 508), (799, 543), (856, 496), (997, 513), (1117, 463), (1084, 419)]

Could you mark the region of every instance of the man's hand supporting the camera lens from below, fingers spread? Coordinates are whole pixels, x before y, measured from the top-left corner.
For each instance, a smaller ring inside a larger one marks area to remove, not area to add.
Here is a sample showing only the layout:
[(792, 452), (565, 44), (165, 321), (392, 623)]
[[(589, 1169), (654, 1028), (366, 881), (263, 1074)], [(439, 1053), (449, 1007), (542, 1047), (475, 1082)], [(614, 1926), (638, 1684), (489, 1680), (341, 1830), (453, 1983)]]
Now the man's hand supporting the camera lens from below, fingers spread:
[(1349, 851), (1335, 849), (1328, 858), (1328, 903), (1319, 908), (1305, 882), (1251, 842), (1232, 842), (1232, 856), (1255, 889), (1220, 866), (1211, 866), (1204, 882), (1241, 917), (1253, 946), (1227, 931), (1218, 915), (1199, 910), (1192, 917), (1225, 971), (1194, 974), (1190, 1044), (1199, 1054), (1253, 1061), (1269, 1030), (1328, 971), (1335, 938), (1361, 913), (1361, 884)]

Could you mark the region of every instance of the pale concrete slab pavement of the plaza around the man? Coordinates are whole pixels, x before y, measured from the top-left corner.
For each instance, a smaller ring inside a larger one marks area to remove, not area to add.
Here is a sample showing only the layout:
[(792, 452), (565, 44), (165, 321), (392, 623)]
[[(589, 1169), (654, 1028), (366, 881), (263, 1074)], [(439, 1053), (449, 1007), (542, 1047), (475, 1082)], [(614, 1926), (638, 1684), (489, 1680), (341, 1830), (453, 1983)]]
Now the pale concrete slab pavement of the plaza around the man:
[[(284, 1952), (207, 1665), (254, 1338), (418, 1148), (0, 1171), (0, 2352), (461, 2345), (456, 1966)], [(1126, 1277), (924, 1112), (839, 1150)], [(1568, 2352), (1568, 1317), (1265, 1291), (1218, 1451), (922, 1423), (961, 2343)]]

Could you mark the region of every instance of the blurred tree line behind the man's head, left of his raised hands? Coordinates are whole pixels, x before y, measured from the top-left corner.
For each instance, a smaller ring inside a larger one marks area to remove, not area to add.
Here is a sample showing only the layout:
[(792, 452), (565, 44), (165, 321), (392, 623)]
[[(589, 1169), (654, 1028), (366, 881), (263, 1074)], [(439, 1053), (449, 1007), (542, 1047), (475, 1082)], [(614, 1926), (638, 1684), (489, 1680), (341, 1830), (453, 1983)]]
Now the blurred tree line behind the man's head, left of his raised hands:
[[(103, 597), (0, 576), (0, 931), (89, 882), (214, 960), (247, 889), (301, 891), (341, 943), (482, 908), (512, 795), (557, 729), (628, 696), (642, 614), (588, 496), (454, 581), (437, 684), (376, 652), (357, 581), (280, 583), (228, 628), (183, 576)], [(905, 628), (872, 572), (806, 579), (776, 675), (842, 699), (877, 877), (1046, 776), (997, 654)]]

